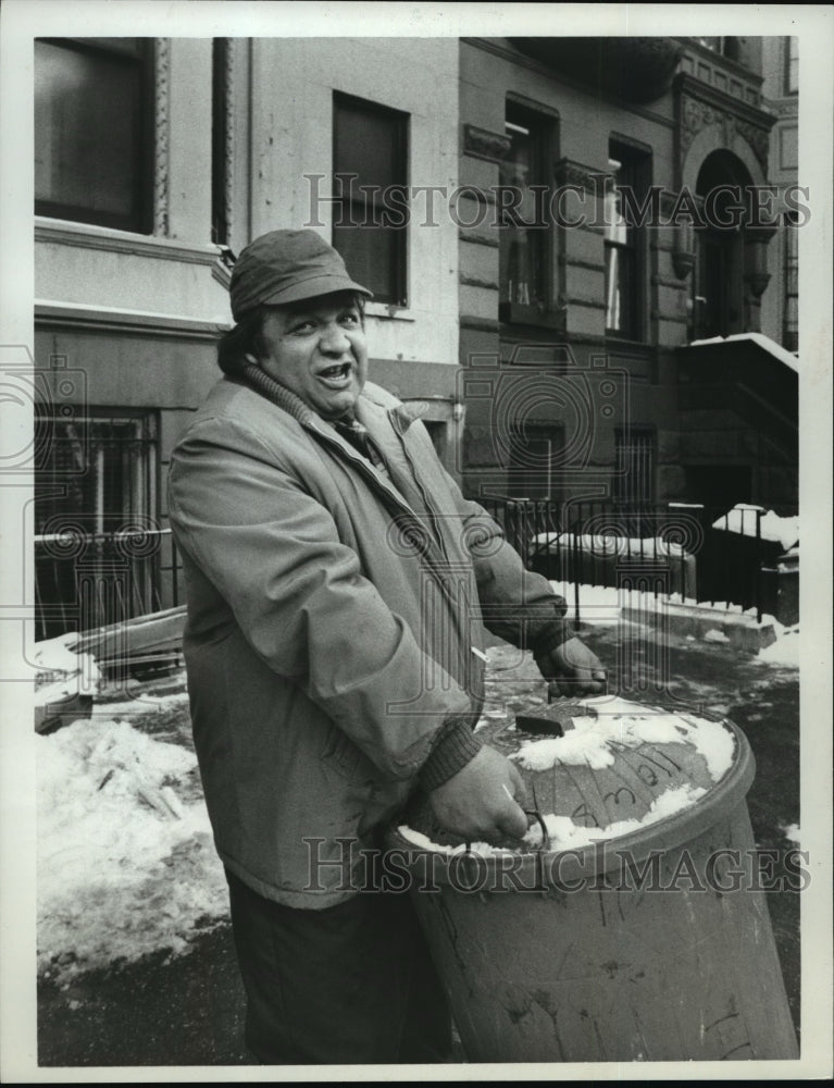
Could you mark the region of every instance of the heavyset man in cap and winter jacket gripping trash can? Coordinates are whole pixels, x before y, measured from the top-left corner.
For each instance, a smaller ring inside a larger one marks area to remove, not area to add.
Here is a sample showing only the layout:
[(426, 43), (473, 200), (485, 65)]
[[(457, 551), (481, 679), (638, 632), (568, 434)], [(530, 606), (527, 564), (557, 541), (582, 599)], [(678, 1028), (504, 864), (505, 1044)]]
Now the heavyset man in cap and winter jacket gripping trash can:
[(473, 733), (485, 625), (567, 690), (605, 682), (564, 602), (366, 381), (369, 296), (314, 232), (257, 238), (225, 376), (171, 462), (195, 744), (264, 1063), (448, 1060), (408, 897), (369, 856), (418, 791), (460, 836), (526, 831), (518, 770)]

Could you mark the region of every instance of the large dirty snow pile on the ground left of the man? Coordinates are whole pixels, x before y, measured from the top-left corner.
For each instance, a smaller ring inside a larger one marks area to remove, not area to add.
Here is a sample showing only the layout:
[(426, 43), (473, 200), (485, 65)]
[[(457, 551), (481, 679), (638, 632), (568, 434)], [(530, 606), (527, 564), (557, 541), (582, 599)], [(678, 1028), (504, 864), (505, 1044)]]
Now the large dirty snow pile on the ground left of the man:
[(37, 745), (39, 970), (181, 952), (227, 916), (192, 752), (101, 719)]

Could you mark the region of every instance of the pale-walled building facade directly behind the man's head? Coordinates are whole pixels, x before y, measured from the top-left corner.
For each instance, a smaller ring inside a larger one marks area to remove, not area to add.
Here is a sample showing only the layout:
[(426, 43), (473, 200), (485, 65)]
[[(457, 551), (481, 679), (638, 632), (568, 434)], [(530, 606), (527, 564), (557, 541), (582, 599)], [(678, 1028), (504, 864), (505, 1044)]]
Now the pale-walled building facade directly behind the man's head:
[(374, 292), (372, 379), (456, 471), (457, 231), (377, 214), (457, 184), (455, 39), (43, 38), (35, 65), (39, 638), (178, 603), (170, 452), (263, 232), (339, 247)]

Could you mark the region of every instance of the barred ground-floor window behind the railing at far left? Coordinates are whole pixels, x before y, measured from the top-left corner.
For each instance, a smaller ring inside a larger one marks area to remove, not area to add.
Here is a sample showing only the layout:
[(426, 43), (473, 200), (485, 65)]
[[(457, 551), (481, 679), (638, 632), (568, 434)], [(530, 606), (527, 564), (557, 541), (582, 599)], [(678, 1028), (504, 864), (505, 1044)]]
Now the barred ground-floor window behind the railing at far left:
[[(37, 415), (37, 638), (87, 630), (160, 604), (155, 415)], [(85, 589), (86, 586), (86, 589)]]

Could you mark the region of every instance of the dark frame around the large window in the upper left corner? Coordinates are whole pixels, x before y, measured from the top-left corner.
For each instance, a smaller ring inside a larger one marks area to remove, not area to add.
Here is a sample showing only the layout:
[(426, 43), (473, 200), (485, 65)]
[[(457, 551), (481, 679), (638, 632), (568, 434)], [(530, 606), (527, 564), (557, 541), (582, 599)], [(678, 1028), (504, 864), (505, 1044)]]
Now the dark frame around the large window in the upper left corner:
[[(47, 219), (67, 220), (73, 223), (87, 223), (91, 226), (110, 227), (111, 230), (127, 231), (132, 234), (153, 233), (153, 139), (154, 139), (154, 116), (153, 116), (153, 39), (139, 37), (135, 39), (138, 48), (135, 52), (127, 47), (120, 48), (117, 38), (54, 38), (38, 37), (35, 45), (57, 46), (62, 49), (72, 50), (75, 53), (87, 55), (105, 55), (109, 59), (117, 58), (126, 65), (139, 69), (139, 90), (138, 110), (139, 124), (137, 126), (134, 152), (136, 160), (136, 173), (132, 185), (133, 208), (128, 214), (120, 212), (102, 212), (82, 205), (66, 203), (60, 200), (45, 200), (35, 198), (35, 214)], [(34, 48), (33, 48), (34, 55)], [(38, 134), (35, 131), (35, 144), (37, 149)]]

